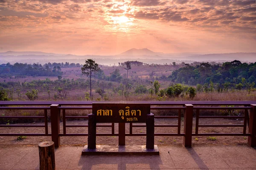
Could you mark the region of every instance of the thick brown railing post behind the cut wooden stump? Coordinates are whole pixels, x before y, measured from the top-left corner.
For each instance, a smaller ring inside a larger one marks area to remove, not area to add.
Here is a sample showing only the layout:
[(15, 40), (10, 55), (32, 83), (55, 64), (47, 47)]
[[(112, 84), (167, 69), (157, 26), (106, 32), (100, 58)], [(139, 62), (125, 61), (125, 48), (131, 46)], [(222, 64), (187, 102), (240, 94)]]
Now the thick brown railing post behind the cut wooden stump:
[(52, 104), (50, 106), (51, 110), (51, 130), (52, 130), (52, 141), (55, 147), (61, 145), (60, 134), (60, 110), (58, 109), (58, 104)]

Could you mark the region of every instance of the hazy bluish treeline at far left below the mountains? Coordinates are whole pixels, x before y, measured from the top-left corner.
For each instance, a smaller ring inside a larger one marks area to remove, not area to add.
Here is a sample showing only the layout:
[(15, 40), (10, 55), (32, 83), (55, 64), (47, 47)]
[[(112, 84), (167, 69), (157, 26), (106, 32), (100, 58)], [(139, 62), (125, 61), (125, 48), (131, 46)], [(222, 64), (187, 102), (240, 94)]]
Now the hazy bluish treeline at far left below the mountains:
[(15, 63), (1, 64), (0, 75), (26, 75), (26, 76), (59, 76), (62, 75), (61, 68), (81, 67), (79, 63)]

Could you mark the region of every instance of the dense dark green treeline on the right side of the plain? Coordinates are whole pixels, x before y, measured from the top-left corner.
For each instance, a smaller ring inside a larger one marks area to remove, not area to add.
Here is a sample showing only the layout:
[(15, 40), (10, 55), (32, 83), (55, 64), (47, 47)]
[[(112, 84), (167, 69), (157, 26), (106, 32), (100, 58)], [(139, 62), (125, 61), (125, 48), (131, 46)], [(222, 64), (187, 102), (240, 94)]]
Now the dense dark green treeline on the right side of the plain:
[(222, 64), (200, 63), (192, 66), (185, 64), (185, 67), (175, 70), (168, 78), (177, 83), (183, 84), (205, 84), (212, 81), (216, 84), (256, 83), (256, 62), (241, 63), (241, 61), (225, 62)]

